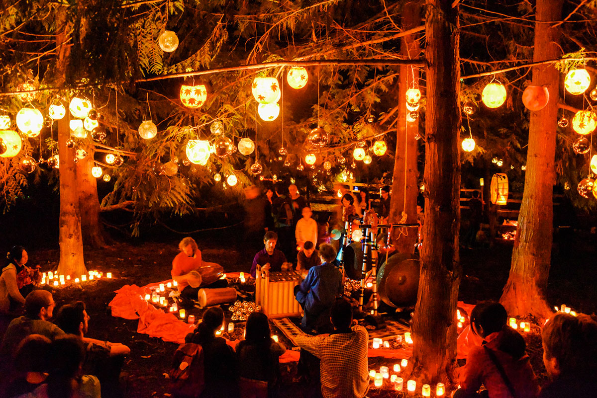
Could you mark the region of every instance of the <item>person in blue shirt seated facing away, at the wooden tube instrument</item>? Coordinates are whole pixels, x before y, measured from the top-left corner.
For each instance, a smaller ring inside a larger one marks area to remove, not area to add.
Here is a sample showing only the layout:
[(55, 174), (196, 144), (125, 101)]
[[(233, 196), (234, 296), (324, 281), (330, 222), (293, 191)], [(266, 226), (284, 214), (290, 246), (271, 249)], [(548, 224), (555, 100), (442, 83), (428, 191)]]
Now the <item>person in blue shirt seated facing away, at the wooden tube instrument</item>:
[(330, 329), (330, 309), (336, 297), (344, 290), (342, 273), (333, 265), (336, 250), (323, 244), (319, 248), (322, 265), (309, 269), (307, 277), (294, 287), (294, 294), (304, 310), (301, 328), (325, 332)]

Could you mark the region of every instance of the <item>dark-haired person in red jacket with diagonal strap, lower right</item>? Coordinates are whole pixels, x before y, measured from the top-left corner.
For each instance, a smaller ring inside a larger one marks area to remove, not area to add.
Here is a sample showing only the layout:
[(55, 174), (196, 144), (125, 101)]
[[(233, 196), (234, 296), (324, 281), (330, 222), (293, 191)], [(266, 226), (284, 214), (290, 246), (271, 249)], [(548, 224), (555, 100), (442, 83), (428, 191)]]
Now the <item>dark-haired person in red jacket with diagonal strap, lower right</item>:
[(481, 397), (481, 384), (490, 398), (534, 398), (539, 385), (525, 355), (524, 338), (506, 325), (506, 309), (491, 301), (477, 304), (470, 313), (472, 331), (483, 338), (470, 350), (460, 371), (460, 390), (454, 398)]

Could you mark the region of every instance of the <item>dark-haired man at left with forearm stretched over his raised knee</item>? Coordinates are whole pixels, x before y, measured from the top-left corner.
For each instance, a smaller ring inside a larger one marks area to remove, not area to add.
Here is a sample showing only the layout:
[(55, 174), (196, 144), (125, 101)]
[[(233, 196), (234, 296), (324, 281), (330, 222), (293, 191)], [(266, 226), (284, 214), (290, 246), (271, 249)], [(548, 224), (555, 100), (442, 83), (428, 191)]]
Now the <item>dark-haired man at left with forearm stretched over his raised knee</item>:
[(85, 337), (88, 332), (90, 316), (83, 301), (75, 301), (60, 307), (56, 324), (68, 334), (81, 338), (85, 347), (83, 373), (96, 375), (101, 383), (101, 395), (112, 397), (119, 395), (119, 380), (124, 358), (131, 349), (121, 343), (96, 340)]

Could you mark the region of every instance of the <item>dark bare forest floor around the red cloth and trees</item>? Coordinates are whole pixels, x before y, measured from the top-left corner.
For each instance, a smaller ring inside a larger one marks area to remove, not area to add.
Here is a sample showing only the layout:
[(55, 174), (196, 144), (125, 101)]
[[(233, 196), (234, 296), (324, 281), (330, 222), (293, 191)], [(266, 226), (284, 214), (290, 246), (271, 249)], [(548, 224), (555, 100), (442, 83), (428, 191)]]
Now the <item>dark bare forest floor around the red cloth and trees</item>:
[[(210, 240), (211, 239), (211, 240)], [(218, 262), (227, 272), (248, 271), (253, 258), (244, 248), (231, 248), (230, 241), (214, 237), (200, 239), (199, 248), (203, 259)], [(130, 241), (115, 243), (103, 250), (85, 253), (85, 263), (89, 270), (112, 272), (113, 279), (101, 279), (81, 288), (63, 288), (54, 291), (57, 306), (72, 300), (83, 300), (91, 316), (89, 337), (115, 341), (131, 347), (131, 354), (123, 369), (125, 397), (149, 398), (170, 396), (166, 374), (171, 363), (176, 344), (166, 343), (158, 338), (137, 333), (137, 321), (114, 318), (107, 304), (115, 296), (113, 293), (125, 284), (143, 286), (170, 278), (171, 262), (178, 252), (179, 237), (161, 242)], [(223, 242), (226, 242), (224, 244)], [(595, 245), (587, 245), (582, 250), (568, 247), (567, 253), (554, 251), (547, 298), (552, 305), (562, 303), (578, 312), (594, 313), (597, 310), (597, 269), (594, 266)], [(460, 300), (475, 304), (481, 300), (497, 300), (506, 282), (512, 244), (496, 244), (493, 248), (461, 250), (461, 263), (464, 277), (460, 288)], [(56, 269), (59, 253), (54, 250), (35, 250), (29, 253), (31, 265), (41, 265), (44, 271)], [(230, 316), (230, 313), (227, 313)], [(542, 362), (541, 340), (538, 334), (525, 334), (528, 353), (540, 383), (547, 381)], [(391, 366), (395, 360), (370, 358), (370, 369), (381, 365)], [(282, 397), (308, 397), (309, 390), (297, 381), (296, 363), (282, 364)], [(374, 388), (373, 383), (368, 397), (395, 397), (389, 383), (383, 388)], [(418, 390), (418, 388), (417, 388)]]

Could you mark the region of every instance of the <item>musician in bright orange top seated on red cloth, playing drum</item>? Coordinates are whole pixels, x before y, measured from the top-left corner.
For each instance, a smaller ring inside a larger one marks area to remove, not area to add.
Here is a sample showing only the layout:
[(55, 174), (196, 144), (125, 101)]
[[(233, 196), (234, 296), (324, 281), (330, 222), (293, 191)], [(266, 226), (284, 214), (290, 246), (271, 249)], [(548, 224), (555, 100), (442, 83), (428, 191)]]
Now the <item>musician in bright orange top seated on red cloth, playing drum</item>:
[(224, 269), (216, 263), (201, 259), (201, 250), (197, 242), (186, 237), (179, 243), (180, 253), (172, 262), (172, 279), (179, 284), (180, 296), (189, 300), (198, 300), (199, 289), (227, 287), (226, 279), (220, 279)]

